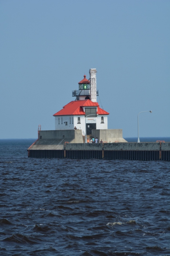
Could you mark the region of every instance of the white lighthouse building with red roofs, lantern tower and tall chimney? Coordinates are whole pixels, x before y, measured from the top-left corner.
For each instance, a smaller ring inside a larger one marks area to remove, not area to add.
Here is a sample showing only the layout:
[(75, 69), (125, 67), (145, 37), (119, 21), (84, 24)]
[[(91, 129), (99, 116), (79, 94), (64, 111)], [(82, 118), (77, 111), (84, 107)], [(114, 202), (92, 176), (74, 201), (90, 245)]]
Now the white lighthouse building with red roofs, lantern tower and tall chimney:
[(75, 101), (69, 102), (60, 111), (55, 113), (56, 130), (82, 130), (82, 134), (92, 135), (92, 129), (107, 129), (107, 115), (97, 103), (96, 69), (90, 69), (90, 79), (81, 80), (79, 90), (72, 91)]

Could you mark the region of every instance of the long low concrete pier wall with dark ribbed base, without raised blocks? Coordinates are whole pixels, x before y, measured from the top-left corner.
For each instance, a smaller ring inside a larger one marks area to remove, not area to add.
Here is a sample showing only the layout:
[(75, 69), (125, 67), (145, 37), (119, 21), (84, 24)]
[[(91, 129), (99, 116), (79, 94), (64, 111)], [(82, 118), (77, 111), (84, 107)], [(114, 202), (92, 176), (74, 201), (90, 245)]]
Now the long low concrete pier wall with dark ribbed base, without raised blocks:
[(165, 160), (170, 161), (170, 142), (126, 143), (64, 143), (30, 147), (30, 158), (106, 159), (106, 160)]

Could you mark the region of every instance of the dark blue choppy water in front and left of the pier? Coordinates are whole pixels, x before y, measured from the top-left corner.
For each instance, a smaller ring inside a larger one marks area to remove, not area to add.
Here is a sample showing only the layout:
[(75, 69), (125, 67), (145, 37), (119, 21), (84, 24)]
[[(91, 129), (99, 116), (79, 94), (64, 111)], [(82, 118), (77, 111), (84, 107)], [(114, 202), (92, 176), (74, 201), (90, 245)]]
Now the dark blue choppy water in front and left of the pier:
[(0, 255), (170, 255), (170, 162), (27, 158), (0, 140)]

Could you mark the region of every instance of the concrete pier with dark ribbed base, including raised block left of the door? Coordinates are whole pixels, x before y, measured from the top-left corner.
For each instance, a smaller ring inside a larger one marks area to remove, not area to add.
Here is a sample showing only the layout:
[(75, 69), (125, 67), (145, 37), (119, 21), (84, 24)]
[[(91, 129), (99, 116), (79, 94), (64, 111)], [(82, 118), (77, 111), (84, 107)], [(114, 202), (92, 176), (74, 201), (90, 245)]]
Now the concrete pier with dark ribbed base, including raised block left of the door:
[(170, 142), (83, 143), (81, 130), (40, 131), (38, 137), (30, 158), (170, 161)]

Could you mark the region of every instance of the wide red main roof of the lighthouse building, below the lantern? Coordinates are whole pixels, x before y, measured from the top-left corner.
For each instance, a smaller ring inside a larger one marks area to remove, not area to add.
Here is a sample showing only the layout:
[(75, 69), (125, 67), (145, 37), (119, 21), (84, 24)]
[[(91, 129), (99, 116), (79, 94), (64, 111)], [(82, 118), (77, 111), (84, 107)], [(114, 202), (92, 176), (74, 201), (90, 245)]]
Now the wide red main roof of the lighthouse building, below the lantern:
[(82, 101), (71, 101), (63, 107), (60, 111), (53, 114), (53, 116), (70, 116), (70, 115), (85, 115), (82, 107), (97, 107), (97, 114), (108, 115), (109, 113), (105, 110), (99, 108), (97, 102), (92, 102), (90, 99), (85, 99)]

